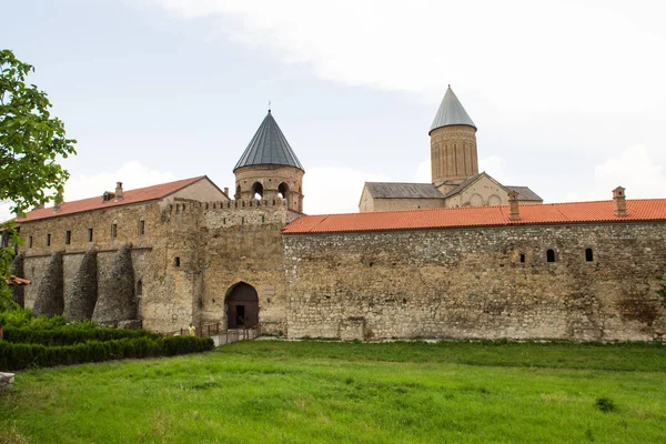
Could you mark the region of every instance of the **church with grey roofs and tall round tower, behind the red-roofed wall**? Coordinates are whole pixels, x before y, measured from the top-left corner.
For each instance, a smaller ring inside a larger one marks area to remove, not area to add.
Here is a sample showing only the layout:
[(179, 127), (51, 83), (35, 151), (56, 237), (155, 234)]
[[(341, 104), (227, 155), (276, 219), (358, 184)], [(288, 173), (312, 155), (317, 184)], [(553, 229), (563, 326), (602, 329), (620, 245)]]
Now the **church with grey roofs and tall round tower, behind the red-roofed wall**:
[(433, 208), (506, 205), (515, 191), (521, 203), (543, 203), (527, 186), (503, 185), (478, 172), (476, 125), (451, 85), (428, 132), (431, 183), (366, 182), (359, 210), (397, 211)]

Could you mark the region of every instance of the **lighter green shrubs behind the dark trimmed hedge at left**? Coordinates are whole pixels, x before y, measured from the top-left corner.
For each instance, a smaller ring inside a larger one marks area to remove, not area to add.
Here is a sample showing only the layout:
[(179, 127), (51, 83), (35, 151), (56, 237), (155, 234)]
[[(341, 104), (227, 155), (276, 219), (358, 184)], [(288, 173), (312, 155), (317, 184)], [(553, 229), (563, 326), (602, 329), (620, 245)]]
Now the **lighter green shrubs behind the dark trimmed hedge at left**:
[[(89, 341), (113, 341), (125, 337), (158, 339), (154, 333), (144, 330), (93, 329), (90, 326), (69, 324), (50, 330), (33, 330), (32, 327), (7, 327), (4, 340), (16, 344), (41, 344), (46, 346), (74, 345)], [(92, 324), (94, 325), (94, 324)]]

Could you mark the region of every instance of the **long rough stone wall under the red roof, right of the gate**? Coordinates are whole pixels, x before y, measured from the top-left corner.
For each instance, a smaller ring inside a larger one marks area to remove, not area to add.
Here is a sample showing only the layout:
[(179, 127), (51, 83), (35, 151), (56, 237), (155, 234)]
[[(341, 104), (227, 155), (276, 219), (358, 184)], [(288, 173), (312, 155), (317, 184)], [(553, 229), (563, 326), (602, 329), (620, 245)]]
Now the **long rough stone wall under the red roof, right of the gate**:
[(655, 293), (666, 269), (664, 223), (283, 235), (283, 243), (290, 337), (650, 341), (666, 332)]

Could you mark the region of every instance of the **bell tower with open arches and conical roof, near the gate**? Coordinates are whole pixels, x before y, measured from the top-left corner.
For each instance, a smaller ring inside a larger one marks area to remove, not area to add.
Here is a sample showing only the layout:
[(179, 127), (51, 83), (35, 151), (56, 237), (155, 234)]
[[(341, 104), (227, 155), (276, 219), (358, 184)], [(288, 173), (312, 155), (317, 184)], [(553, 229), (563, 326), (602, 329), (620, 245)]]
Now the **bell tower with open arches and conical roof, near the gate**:
[(303, 212), (303, 165), (278, 127), (271, 110), (233, 169), (235, 199), (284, 200), (286, 208)]

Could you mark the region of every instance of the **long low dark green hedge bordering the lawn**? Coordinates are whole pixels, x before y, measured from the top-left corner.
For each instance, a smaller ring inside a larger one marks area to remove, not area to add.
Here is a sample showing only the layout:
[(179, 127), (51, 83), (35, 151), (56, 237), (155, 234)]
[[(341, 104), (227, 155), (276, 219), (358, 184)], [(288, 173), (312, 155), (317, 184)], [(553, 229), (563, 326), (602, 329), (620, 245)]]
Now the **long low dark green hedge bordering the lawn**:
[(124, 337), (64, 346), (1, 341), (0, 371), (22, 370), (30, 366), (72, 365), (129, 357), (173, 356), (205, 352), (212, 350), (213, 346), (213, 340), (210, 337), (194, 336)]

